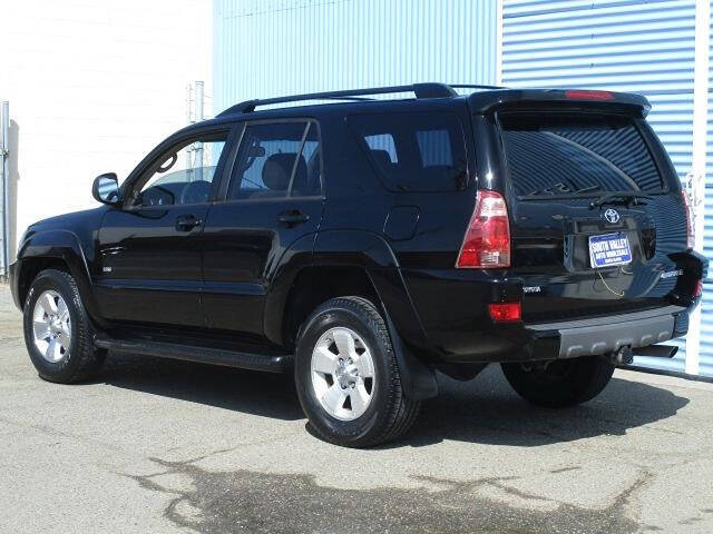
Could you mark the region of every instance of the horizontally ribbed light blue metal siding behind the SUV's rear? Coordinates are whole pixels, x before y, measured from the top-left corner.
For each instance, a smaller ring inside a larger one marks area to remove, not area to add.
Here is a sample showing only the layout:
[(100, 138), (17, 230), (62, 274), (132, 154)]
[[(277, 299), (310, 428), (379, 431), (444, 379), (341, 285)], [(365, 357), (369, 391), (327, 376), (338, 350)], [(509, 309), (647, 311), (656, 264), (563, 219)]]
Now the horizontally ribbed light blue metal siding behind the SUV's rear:
[[(685, 178), (692, 156), (694, 32), (695, 0), (506, 0), (501, 80), (510, 87), (646, 95), (648, 121)], [(706, 291), (704, 329), (713, 323), (705, 314), (710, 298)], [(713, 346), (713, 335), (702, 332), (704, 337)], [(637, 364), (683, 372), (685, 343), (678, 345), (672, 360), (637, 358)], [(710, 373), (713, 358), (704, 362), (703, 350), (701, 356), (701, 370)]]

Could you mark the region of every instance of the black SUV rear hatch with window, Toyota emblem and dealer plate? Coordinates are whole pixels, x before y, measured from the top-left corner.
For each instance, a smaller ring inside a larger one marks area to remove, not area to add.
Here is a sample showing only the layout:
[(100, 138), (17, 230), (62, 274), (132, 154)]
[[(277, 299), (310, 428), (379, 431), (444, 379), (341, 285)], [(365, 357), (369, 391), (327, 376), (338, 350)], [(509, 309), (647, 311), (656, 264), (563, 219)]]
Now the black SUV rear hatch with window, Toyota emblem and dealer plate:
[(642, 115), (602, 102), (497, 111), (526, 323), (672, 304), (686, 207)]

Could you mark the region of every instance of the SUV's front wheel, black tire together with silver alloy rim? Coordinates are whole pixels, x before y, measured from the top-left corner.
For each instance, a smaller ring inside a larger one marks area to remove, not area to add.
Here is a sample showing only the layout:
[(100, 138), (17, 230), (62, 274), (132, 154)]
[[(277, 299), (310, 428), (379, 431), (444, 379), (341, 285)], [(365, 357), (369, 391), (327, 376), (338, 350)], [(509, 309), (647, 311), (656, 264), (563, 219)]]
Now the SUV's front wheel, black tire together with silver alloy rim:
[[(42, 303), (38, 305), (40, 298)], [(52, 306), (58, 319), (50, 327), (47, 326), (46, 308)], [(42, 270), (32, 281), (22, 309), (25, 344), (41, 378), (70, 384), (89, 378), (101, 367), (106, 352), (97, 350), (94, 346), (94, 329), (81, 304), (77, 284), (69, 274), (57, 269)], [(68, 323), (65, 320), (67, 317)], [(40, 343), (42, 350), (36, 340), (36, 323), (38, 337), (49, 335), (47, 342)], [(56, 337), (55, 349), (50, 349), (52, 336)]]

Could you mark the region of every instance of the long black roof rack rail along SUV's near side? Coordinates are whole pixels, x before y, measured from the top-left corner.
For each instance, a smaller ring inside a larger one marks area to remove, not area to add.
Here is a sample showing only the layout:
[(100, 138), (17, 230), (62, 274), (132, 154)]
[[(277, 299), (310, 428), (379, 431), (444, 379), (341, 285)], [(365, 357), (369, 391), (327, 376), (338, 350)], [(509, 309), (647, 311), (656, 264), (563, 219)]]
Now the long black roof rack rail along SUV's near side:
[(344, 91), (310, 92), (305, 95), (293, 95), (290, 97), (246, 100), (244, 102), (236, 103), (235, 106), (231, 106), (225, 111), (218, 113), (217, 117), (235, 113), (250, 113), (255, 111), (257, 106), (270, 106), (272, 103), (299, 102), (301, 100), (358, 100), (355, 97), (389, 95), (392, 92), (413, 92), (416, 98), (449, 98), (458, 96), (458, 93), (446, 83), (412, 83), (410, 86), (348, 89)]

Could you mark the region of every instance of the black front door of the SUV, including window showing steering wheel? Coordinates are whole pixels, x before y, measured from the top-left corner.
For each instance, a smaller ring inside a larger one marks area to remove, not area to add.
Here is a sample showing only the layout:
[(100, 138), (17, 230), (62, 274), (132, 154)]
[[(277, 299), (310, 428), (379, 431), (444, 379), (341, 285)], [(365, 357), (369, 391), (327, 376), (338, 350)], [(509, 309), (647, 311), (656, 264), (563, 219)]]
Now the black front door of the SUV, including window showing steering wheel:
[(202, 236), (224, 167), (229, 130), (199, 130), (124, 188), (98, 236), (96, 295), (108, 320), (203, 326)]

